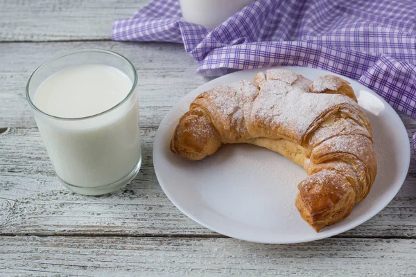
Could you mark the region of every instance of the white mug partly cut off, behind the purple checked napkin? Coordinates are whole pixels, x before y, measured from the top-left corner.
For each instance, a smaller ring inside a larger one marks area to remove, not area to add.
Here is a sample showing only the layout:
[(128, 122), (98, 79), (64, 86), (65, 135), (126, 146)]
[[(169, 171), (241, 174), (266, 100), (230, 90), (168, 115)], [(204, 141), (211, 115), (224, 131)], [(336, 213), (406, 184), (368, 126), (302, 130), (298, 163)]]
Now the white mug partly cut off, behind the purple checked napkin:
[(214, 29), (253, 0), (180, 0), (185, 21)]

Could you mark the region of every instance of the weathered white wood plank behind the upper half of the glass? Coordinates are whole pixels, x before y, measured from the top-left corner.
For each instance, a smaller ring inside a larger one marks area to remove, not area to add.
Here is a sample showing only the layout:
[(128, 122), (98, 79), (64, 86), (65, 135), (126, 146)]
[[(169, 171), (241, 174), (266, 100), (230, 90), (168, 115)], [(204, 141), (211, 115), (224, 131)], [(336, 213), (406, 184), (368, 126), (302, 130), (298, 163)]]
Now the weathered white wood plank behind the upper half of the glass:
[(106, 48), (128, 57), (139, 75), (141, 125), (155, 127), (180, 98), (207, 82), (180, 44), (60, 42), (0, 44), (0, 127), (35, 127), (25, 96), (31, 73), (49, 58), (80, 48)]

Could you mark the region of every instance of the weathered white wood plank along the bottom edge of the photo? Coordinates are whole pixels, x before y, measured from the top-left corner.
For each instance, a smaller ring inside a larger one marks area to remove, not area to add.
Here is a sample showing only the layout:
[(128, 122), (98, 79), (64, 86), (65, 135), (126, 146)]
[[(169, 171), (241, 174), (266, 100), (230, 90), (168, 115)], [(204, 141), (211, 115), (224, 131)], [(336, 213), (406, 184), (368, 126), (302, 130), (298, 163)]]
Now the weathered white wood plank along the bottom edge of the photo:
[(255, 244), (227, 238), (0, 237), (0, 274), (414, 276), (415, 240)]

